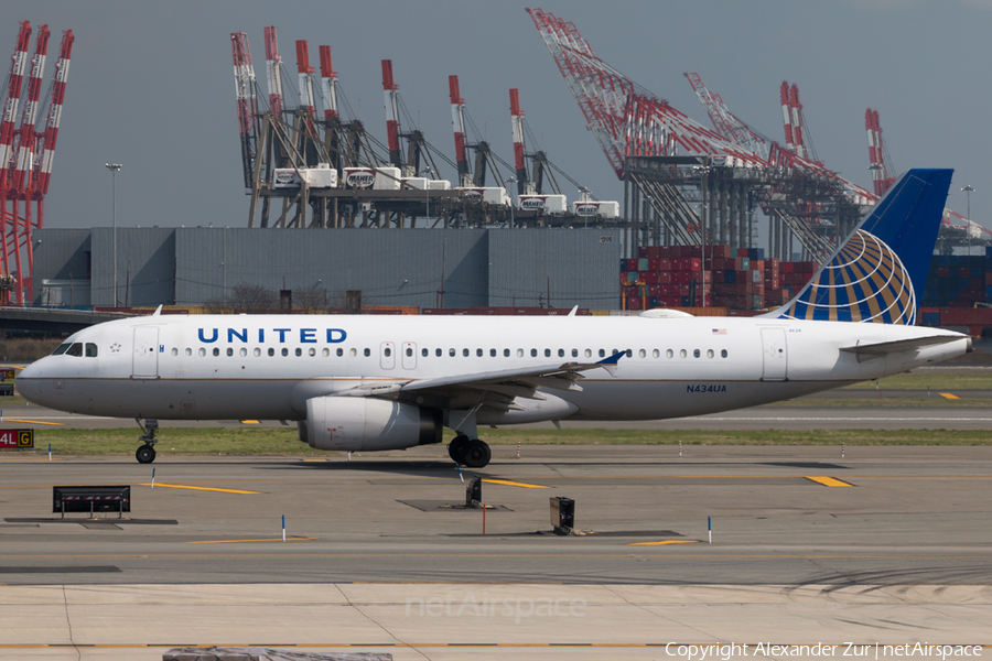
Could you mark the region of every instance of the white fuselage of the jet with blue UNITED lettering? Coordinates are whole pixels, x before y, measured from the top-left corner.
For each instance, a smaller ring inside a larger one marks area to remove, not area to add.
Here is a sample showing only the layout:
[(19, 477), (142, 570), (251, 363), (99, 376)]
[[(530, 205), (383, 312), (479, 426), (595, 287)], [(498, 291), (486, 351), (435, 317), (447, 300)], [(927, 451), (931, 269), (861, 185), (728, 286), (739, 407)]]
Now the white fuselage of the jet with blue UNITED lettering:
[[(951, 339), (869, 357), (841, 350), (935, 335)], [(34, 362), (18, 378), (25, 398), (75, 413), (163, 420), (303, 420), (306, 400), (370, 384), (629, 351), (615, 376), (584, 371), (581, 390), (549, 389), (519, 410), (479, 412), (479, 424), (713, 413), (877, 379), (969, 347), (957, 333), (883, 324), (589, 316), (150, 316), (66, 342), (91, 344), (96, 356)]]

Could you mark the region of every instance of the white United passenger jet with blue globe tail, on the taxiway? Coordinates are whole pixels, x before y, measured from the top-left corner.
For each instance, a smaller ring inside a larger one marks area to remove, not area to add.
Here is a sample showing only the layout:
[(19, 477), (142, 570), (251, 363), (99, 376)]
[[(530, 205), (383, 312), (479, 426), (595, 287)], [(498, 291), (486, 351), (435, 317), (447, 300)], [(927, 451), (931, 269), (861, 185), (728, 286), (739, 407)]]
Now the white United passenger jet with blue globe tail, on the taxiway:
[[(972, 350), (917, 327), (951, 170), (910, 170), (789, 303), (757, 317), (192, 315), (79, 330), (21, 371), (43, 407), (159, 420), (295, 421), (326, 451), (442, 442), (481, 468), (481, 425), (659, 420), (880, 379)], [(144, 424), (142, 424), (144, 420)]]

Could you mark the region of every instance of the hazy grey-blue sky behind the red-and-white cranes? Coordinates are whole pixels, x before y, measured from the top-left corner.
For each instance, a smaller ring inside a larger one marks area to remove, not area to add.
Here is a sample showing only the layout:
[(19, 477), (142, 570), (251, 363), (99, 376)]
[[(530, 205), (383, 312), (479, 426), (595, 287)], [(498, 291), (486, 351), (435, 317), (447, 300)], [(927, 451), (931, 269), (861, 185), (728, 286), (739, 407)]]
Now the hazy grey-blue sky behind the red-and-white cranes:
[[(292, 79), (295, 40), (310, 42), (315, 68), (317, 45), (331, 45), (345, 96), (382, 141), (379, 62), (391, 58), (413, 122), (450, 158), (448, 76), (461, 77), (481, 138), (510, 162), (507, 90), (518, 87), (527, 122), (551, 161), (601, 199), (622, 199), (621, 183), (525, 7), (7, 0), (0, 52), (13, 52), (20, 20), (52, 30), (44, 90), (61, 31), (76, 36), (46, 227), (110, 225), (106, 162), (123, 164), (120, 226), (246, 226), (229, 35), (248, 33), (265, 88), (266, 25), (278, 28)], [(818, 158), (865, 187), (864, 110), (875, 108), (896, 171), (953, 167), (949, 206), (966, 214), (959, 189), (970, 184), (972, 218), (992, 226), (990, 0), (559, 0), (540, 7), (573, 21), (600, 57), (707, 126), (683, 72), (698, 72), (732, 112), (778, 141), (779, 85), (798, 84)], [(567, 194), (571, 199), (575, 191)]]

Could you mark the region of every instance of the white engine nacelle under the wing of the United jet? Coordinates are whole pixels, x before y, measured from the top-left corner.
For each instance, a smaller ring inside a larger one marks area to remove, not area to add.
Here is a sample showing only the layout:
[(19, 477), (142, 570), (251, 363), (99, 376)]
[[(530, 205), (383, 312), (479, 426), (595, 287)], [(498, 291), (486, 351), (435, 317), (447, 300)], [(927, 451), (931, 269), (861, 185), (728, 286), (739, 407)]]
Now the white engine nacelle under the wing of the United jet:
[(306, 441), (316, 449), (402, 449), (441, 443), (441, 411), (364, 397), (306, 400)]

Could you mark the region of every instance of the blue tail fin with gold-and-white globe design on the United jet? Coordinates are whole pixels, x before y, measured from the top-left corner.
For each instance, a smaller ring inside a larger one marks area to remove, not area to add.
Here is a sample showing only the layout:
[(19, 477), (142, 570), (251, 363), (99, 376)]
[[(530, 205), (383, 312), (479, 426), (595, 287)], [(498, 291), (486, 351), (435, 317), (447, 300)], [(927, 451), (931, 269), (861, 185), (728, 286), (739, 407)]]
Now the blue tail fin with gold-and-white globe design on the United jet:
[(766, 316), (915, 324), (952, 174), (904, 174), (812, 280)]

